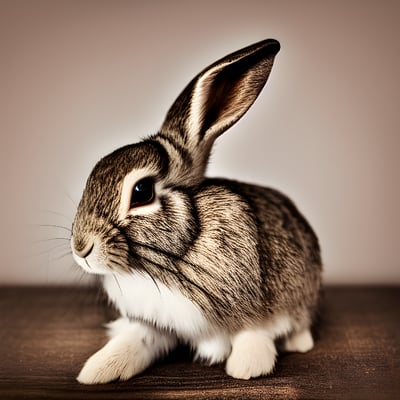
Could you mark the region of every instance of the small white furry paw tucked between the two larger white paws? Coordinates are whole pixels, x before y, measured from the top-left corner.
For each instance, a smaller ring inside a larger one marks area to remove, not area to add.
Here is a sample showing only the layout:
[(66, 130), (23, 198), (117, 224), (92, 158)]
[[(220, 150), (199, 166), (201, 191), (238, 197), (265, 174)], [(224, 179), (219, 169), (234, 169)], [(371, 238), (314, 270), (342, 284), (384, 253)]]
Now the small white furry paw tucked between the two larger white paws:
[(231, 352), (231, 343), (227, 336), (214, 336), (197, 343), (195, 359), (209, 365), (223, 362)]

